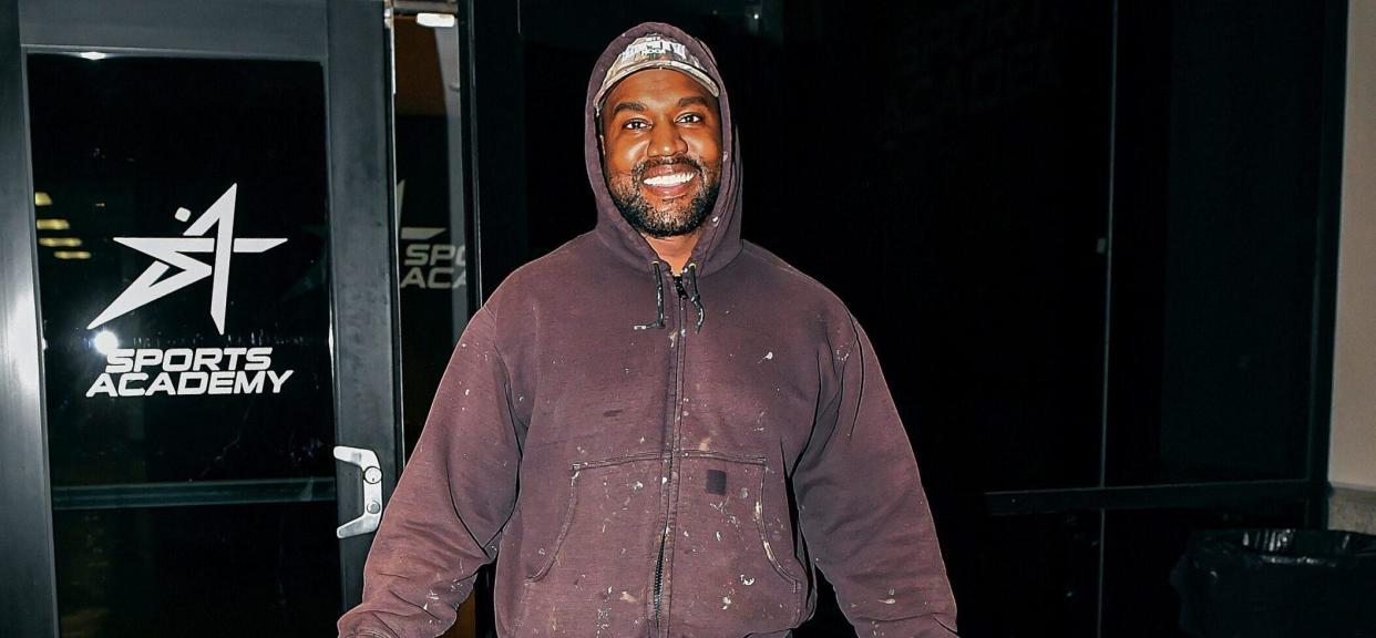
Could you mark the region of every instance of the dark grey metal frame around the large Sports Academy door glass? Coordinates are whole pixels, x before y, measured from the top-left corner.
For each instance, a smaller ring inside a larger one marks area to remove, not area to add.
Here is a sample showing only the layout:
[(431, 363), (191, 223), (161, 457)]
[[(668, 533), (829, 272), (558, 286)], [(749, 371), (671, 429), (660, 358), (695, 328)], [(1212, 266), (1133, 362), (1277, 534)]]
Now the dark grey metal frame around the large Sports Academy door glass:
[[(384, 503), (402, 454), (384, 3), (0, 0), (0, 544), (8, 554), (0, 561), (0, 617), (7, 634), (34, 638), (58, 635), (58, 601), (25, 60), (30, 52), (85, 50), (322, 65), (336, 444), (377, 452)], [(359, 474), (336, 465), (340, 524), (362, 513)], [(362, 597), (372, 534), (338, 543), (347, 609)]]

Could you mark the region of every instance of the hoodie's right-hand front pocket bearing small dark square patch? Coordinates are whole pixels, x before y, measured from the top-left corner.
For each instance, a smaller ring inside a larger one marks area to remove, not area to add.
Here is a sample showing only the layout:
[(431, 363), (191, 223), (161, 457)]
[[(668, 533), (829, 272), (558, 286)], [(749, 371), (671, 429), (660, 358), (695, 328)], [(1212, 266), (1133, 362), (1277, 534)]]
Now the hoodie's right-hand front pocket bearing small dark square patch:
[(671, 624), (691, 635), (797, 624), (806, 588), (790, 571), (797, 561), (783, 481), (761, 458), (685, 451), (678, 461)]

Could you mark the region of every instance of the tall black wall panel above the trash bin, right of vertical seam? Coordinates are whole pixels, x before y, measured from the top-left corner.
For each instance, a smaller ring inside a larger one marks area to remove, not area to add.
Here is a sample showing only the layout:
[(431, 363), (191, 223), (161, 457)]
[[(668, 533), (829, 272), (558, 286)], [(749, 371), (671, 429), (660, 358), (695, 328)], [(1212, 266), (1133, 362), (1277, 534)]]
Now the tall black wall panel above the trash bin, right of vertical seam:
[(1303, 478), (1324, 8), (1121, 7), (1110, 483)]

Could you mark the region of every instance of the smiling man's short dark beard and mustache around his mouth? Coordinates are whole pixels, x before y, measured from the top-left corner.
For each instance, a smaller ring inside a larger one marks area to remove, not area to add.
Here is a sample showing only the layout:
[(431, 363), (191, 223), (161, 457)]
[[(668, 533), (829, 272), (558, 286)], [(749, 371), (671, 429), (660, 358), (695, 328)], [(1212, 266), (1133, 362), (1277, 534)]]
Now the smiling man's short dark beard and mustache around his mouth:
[[(685, 164), (698, 173), (702, 186), (692, 199), (676, 199), (665, 209), (656, 209), (645, 201), (640, 191), (640, 184), (645, 177), (645, 170), (666, 164)], [(720, 172), (709, 173), (707, 169), (691, 157), (665, 157), (645, 160), (636, 165), (629, 176), (619, 175), (608, 182), (611, 199), (633, 228), (649, 236), (666, 238), (687, 235), (707, 219), (713, 205), (717, 204), (717, 191), (721, 188)]]

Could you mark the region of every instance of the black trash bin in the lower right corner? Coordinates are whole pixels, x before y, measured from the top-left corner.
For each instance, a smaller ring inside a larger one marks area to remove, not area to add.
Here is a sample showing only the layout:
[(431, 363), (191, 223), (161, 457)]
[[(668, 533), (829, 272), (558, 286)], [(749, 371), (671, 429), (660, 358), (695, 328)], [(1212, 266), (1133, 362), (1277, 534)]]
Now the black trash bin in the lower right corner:
[(1376, 638), (1376, 536), (1196, 532), (1171, 572), (1198, 638)]

